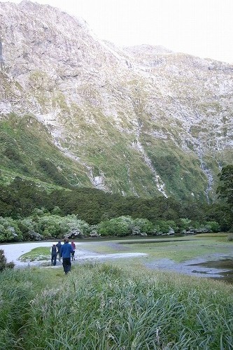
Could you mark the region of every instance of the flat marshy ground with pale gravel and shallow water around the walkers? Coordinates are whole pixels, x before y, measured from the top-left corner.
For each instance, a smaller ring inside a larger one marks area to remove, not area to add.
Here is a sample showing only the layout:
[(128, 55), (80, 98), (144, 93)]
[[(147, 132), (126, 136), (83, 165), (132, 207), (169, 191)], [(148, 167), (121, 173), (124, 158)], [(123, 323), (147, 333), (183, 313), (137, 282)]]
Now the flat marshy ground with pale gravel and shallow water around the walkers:
[[(50, 246), (54, 241), (3, 244), (8, 261), (16, 267), (49, 265)], [(139, 265), (181, 274), (210, 277), (233, 283), (233, 243), (223, 235), (216, 237), (166, 237), (82, 240), (76, 243), (76, 260), (113, 261), (118, 265)], [(35, 249), (36, 248), (36, 249)], [(62, 262), (57, 261), (57, 267)]]

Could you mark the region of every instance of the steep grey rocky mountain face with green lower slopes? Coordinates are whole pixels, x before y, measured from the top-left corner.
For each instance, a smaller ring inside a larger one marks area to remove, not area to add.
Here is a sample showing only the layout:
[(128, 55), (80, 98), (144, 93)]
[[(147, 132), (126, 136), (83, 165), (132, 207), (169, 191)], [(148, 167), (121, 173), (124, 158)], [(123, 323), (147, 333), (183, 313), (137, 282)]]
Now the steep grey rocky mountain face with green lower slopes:
[(1, 181), (214, 200), (233, 162), (233, 65), (118, 48), (30, 1), (0, 2), (0, 63)]

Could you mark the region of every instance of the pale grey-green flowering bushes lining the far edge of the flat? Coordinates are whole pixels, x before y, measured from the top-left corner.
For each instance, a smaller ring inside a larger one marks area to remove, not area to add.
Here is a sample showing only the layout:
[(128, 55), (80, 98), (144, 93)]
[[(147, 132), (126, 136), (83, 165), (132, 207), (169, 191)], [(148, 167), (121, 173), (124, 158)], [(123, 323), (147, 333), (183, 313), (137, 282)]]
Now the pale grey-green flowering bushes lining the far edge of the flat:
[(152, 223), (146, 218), (119, 216), (106, 219), (98, 225), (89, 225), (75, 214), (59, 216), (50, 214), (45, 209), (36, 209), (27, 218), (13, 219), (0, 217), (0, 241), (36, 241), (59, 238), (64, 236), (89, 237), (120, 237), (128, 235), (161, 235), (195, 232), (219, 232), (220, 225), (216, 221), (199, 223), (181, 218), (177, 223), (172, 220), (158, 220)]

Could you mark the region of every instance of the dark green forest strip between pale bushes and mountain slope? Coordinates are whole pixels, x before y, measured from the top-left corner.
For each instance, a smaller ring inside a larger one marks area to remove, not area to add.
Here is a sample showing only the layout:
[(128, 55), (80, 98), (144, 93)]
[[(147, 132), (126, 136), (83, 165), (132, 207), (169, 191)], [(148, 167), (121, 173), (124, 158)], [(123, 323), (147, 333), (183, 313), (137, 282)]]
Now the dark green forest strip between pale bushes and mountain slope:
[[(43, 208), (41, 215), (75, 214), (89, 225), (97, 225), (106, 219), (120, 216), (148, 219), (153, 225), (157, 221), (174, 221), (179, 228), (183, 225), (183, 230), (188, 229), (188, 225), (185, 221), (182, 223), (181, 218), (200, 223), (216, 221), (220, 225), (220, 230), (224, 231), (233, 225), (229, 204), (207, 205), (194, 200), (179, 202), (174, 197), (161, 196), (122, 197), (93, 188), (54, 190), (52, 193), (46, 193), (35, 183), (20, 177), (16, 177), (8, 186), (0, 186), (0, 216), (25, 218), (32, 214), (39, 215), (40, 208)], [(144, 231), (142, 228), (140, 230)]]

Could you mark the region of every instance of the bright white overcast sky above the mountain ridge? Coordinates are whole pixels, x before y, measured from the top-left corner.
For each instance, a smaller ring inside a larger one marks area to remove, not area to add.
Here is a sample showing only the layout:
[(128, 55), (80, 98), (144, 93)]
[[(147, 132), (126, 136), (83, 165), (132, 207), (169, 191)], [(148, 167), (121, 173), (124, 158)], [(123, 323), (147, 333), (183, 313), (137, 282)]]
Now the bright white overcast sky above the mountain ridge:
[(48, 3), (82, 17), (100, 39), (118, 46), (162, 45), (174, 52), (233, 63), (233, 0), (34, 2)]

